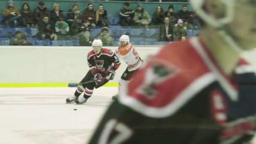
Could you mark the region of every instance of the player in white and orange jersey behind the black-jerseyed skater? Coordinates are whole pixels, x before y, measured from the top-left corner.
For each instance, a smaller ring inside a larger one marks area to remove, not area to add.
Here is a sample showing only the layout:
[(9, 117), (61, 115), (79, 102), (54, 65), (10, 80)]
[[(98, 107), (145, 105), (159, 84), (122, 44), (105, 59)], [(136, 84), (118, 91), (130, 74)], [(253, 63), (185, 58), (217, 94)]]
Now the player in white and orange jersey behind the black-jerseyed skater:
[[(115, 52), (119, 59), (123, 59), (127, 64), (127, 68), (121, 80), (119, 80), (119, 87), (121, 85), (126, 85), (132, 78), (132, 75), (139, 69), (141, 66), (141, 58), (134, 48), (134, 45), (130, 43), (130, 38), (128, 35), (122, 35), (119, 38), (119, 47)], [(118, 95), (112, 96), (112, 100), (116, 100)]]

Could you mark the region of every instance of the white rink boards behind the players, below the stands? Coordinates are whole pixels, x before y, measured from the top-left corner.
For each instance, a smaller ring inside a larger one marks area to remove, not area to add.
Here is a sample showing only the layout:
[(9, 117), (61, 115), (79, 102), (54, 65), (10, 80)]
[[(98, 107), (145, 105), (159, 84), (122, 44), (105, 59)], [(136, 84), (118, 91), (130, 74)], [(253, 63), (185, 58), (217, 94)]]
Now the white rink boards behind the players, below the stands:
[[(115, 50), (117, 47), (108, 47)], [(141, 59), (147, 59), (160, 47), (138, 47)], [(91, 47), (0, 46), (0, 83), (79, 82), (88, 72), (87, 54)], [(127, 64), (121, 61), (117, 83)]]

